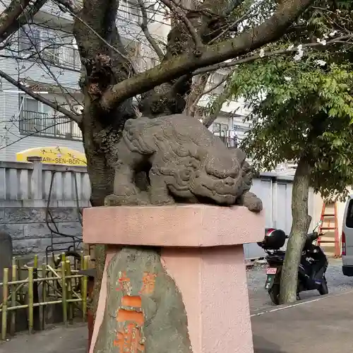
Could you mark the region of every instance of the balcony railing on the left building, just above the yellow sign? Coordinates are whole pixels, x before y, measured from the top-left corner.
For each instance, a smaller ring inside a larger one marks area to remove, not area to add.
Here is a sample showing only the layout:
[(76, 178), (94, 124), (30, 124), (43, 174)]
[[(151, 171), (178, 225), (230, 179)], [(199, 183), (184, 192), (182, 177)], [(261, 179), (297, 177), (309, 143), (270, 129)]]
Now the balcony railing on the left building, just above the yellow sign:
[(80, 128), (66, 116), (23, 110), (20, 112), (19, 129), (24, 135), (82, 140)]

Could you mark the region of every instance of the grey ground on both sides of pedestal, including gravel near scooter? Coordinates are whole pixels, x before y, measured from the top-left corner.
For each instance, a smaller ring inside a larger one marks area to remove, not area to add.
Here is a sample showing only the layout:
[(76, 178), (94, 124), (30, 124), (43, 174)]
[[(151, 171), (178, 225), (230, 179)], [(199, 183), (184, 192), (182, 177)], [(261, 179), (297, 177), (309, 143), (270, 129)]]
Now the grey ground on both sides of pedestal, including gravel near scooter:
[[(317, 292), (294, 306), (273, 306), (263, 289), (265, 269), (248, 272), (255, 353), (352, 351), (353, 277), (342, 275), (342, 261), (331, 261), (330, 295)], [(54, 328), (35, 335), (17, 335), (0, 344), (0, 353), (86, 353), (87, 327)]]

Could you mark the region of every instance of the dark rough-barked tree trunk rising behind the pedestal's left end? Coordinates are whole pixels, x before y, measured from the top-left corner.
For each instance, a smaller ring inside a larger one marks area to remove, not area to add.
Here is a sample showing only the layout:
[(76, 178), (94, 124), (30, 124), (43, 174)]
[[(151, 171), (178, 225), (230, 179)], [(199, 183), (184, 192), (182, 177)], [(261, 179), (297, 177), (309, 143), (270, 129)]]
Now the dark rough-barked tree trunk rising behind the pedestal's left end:
[[(78, 14), (80, 20), (76, 18), (73, 28), (83, 64), (80, 87), (84, 95), (84, 111), (80, 128), (83, 132), (83, 146), (91, 185), (90, 201), (93, 207), (104, 205), (105, 196), (113, 193), (112, 164), (117, 158), (114, 146), (121, 138), (125, 121), (135, 117), (131, 99), (125, 100), (110, 112), (103, 112), (99, 102), (100, 95), (107, 85), (128, 78), (133, 69), (126, 59), (126, 50), (115, 27), (117, 6), (115, 0), (84, 1)], [(87, 25), (106, 42), (88, 30)], [(90, 303), (90, 310), (94, 315), (105, 257), (105, 246), (95, 246), (96, 277)]]

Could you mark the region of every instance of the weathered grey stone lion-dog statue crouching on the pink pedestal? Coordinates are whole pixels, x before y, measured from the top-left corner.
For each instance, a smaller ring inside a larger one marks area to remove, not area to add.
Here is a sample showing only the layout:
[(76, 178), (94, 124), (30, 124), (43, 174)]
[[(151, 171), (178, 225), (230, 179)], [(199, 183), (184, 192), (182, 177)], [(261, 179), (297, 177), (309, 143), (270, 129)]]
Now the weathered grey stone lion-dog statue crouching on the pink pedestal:
[[(214, 203), (262, 210), (249, 192), (253, 176), (246, 154), (227, 148), (192, 116), (130, 119), (116, 148), (114, 195), (107, 205)], [(148, 173), (147, 192), (136, 186), (138, 172)]]

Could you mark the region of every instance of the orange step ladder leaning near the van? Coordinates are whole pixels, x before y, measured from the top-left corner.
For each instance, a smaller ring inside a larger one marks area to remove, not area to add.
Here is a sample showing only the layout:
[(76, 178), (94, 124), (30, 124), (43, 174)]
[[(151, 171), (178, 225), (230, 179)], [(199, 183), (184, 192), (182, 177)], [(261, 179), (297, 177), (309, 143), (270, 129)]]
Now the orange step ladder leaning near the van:
[[(332, 208), (332, 210), (328, 210)], [(323, 201), (323, 209), (321, 211), (321, 225), (318, 227), (318, 246), (331, 251), (335, 258), (340, 258), (340, 236), (338, 233), (337, 222), (337, 203), (329, 203)], [(326, 252), (326, 251), (325, 251)], [(328, 253), (329, 255), (329, 253)]]

